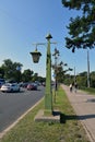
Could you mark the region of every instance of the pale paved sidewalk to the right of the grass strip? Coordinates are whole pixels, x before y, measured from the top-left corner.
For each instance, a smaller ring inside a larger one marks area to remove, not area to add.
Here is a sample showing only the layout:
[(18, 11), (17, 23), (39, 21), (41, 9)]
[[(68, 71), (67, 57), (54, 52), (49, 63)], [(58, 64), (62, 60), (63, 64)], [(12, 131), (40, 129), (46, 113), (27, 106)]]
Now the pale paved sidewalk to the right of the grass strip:
[(95, 142), (95, 95), (88, 95), (84, 92), (73, 91), (70, 93), (69, 86), (61, 85), (74, 108), (74, 111), (81, 120), (84, 129), (90, 137), (91, 142)]

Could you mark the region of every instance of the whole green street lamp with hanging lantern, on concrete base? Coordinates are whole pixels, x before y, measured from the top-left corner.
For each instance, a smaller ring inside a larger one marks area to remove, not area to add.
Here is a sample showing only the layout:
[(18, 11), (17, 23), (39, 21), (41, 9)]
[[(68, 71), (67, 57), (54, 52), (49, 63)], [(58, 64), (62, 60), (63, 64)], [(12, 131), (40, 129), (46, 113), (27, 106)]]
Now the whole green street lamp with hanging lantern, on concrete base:
[[(46, 59), (46, 91), (45, 91), (45, 110), (44, 115), (45, 116), (50, 116), (52, 115), (52, 94), (51, 94), (51, 54), (50, 54), (50, 44), (56, 44), (56, 43), (50, 43), (50, 39), (52, 36), (48, 34), (46, 36), (47, 39), (47, 59)], [(37, 45), (45, 45), (45, 44), (37, 44)], [(41, 56), (40, 52), (34, 51), (31, 52), (33, 57), (33, 61), (35, 63), (38, 62), (37, 59)]]

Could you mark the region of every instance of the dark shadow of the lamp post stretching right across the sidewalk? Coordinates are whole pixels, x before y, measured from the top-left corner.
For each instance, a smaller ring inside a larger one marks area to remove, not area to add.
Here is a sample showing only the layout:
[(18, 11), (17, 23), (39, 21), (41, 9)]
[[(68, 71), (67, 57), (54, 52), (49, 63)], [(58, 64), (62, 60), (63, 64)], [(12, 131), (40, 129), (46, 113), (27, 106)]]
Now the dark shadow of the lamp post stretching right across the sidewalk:
[(95, 114), (82, 115), (82, 116), (60, 114), (60, 123), (66, 123), (66, 121), (68, 120), (85, 120), (85, 119), (91, 119), (91, 118), (95, 118)]

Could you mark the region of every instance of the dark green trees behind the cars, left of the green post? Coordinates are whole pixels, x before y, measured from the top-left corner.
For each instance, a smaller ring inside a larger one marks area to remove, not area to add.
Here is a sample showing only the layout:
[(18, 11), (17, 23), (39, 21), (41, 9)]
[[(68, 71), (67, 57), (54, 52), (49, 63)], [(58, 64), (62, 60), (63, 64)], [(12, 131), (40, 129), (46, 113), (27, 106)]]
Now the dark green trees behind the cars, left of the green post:
[(3, 60), (0, 67), (0, 78), (10, 82), (45, 82), (45, 78), (38, 76), (38, 73), (34, 73), (33, 70), (26, 69), (23, 72), (23, 64), (20, 62), (13, 62), (11, 59)]

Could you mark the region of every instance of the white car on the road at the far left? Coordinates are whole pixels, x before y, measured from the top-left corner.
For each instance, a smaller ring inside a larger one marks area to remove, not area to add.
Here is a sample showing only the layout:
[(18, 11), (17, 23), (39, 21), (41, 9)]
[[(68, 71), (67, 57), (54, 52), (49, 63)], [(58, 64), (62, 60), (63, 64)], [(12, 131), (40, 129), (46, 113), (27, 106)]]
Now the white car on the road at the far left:
[(17, 83), (5, 83), (0, 90), (1, 92), (20, 92), (20, 85)]

